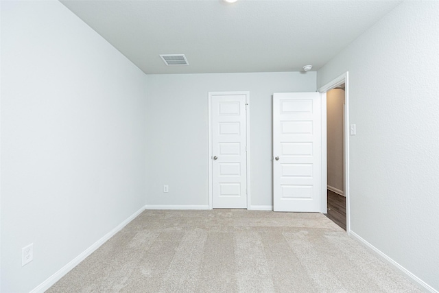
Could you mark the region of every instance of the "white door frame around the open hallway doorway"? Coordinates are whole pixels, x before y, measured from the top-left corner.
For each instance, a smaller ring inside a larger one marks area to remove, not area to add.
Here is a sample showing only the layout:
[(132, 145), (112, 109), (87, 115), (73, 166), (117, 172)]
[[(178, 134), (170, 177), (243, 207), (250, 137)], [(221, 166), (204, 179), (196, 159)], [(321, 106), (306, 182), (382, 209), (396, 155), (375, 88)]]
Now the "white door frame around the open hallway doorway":
[(346, 196), (346, 233), (351, 233), (351, 200), (349, 196), (349, 86), (348, 71), (331, 80), (318, 91), (322, 93), (322, 213), (327, 213), (327, 91), (345, 84), (344, 89), (344, 195)]

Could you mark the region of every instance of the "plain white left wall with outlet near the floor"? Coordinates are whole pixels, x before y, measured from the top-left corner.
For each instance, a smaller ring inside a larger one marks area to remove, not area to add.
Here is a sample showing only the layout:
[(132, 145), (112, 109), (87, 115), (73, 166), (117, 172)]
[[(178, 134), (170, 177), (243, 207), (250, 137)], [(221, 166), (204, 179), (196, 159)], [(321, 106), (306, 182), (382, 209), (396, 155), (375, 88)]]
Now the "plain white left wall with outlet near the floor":
[(29, 292), (144, 206), (145, 74), (58, 1), (1, 1), (1, 45), (1, 292)]

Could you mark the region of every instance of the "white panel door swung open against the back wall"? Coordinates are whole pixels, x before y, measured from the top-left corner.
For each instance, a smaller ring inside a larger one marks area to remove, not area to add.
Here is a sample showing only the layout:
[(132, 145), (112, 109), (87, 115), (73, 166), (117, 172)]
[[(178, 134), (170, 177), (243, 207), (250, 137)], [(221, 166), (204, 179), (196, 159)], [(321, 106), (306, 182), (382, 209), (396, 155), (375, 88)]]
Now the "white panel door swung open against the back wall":
[(273, 95), (273, 209), (319, 212), (320, 93)]

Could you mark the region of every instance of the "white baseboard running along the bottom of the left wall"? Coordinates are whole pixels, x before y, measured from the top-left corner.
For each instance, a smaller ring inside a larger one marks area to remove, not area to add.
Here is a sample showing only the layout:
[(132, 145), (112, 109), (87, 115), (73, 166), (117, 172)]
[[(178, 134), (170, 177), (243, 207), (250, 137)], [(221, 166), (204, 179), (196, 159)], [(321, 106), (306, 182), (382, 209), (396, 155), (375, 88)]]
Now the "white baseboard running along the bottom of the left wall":
[(91, 255), (91, 253), (93, 253), (95, 250), (97, 250), (97, 248), (99, 248), (99, 246), (104, 244), (108, 239), (110, 239), (112, 236), (114, 236), (117, 232), (121, 231), (121, 229), (124, 226), (126, 226), (129, 222), (134, 220), (134, 218), (136, 218), (138, 215), (140, 215), (143, 211), (145, 211), (145, 207), (142, 207), (141, 209), (139, 209), (139, 211), (136, 211), (135, 213), (130, 215), (130, 217), (128, 217), (128, 219), (121, 222), (121, 224), (117, 225), (116, 228), (112, 229), (112, 231), (108, 232), (106, 235), (104, 235), (104, 237), (97, 240), (97, 242), (95, 242), (92, 246), (87, 248), (83, 253), (78, 255), (78, 257), (75, 257), (75, 259), (73, 259), (72, 261), (67, 263), (67, 265), (63, 266), (55, 274), (52, 274), (51, 277), (49, 277), (49, 279), (47, 279), (43, 283), (40, 283), (40, 285), (38, 285), (36, 288), (34, 288), (34, 290), (30, 291), (29, 293), (43, 293), (43, 292), (45, 292), (52, 285), (54, 285), (54, 283), (58, 282), (62, 277), (64, 277), (65, 274), (67, 274), (73, 268), (75, 268), (75, 266), (78, 266), (78, 264), (81, 261), (83, 261), (84, 259), (86, 259), (86, 257), (88, 257), (88, 255)]

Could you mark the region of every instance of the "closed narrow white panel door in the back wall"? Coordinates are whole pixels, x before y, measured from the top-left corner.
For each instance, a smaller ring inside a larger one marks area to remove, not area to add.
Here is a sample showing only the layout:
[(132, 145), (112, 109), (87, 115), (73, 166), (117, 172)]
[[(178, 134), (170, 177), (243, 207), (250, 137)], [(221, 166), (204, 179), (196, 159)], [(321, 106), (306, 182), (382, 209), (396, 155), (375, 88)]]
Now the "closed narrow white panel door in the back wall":
[(247, 208), (246, 95), (212, 95), (212, 207)]

